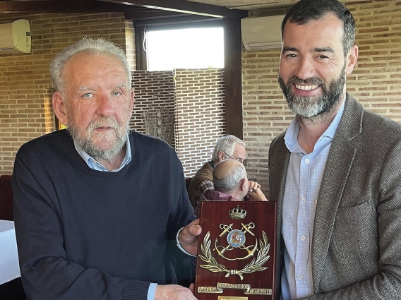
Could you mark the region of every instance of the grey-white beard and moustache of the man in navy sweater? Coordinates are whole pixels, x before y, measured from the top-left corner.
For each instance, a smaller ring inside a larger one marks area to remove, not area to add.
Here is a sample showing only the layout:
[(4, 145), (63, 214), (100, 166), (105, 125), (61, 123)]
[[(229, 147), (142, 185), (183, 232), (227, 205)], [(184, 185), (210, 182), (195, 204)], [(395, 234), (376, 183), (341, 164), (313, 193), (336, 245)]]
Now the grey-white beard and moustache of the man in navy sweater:
[[(100, 148), (96, 143), (94, 143), (92, 138), (92, 136), (96, 134), (93, 132), (94, 129), (104, 124), (107, 124), (107, 126), (114, 128), (114, 133), (105, 133), (102, 135), (98, 135), (97, 138), (100, 138), (103, 141), (109, 141), (110, 139), (113, 139), (113, 143), (109, 148)], [(76, 143), (79, 148), (83, 149), (95, 160), (105, 160), (107, 162), (111, 162), (114, 157), (119, 155), (121, 150), (126, 145), (129, 128), (128, 122), (126, 126), (121, 127), (117, 123), (116, 119), (103, 117), (90, 123), (84, 133), (82, 132), (82, 130), (76, 128), (76, 126), (71, 123), (71, 120), (68, 120), (67, 131), (73, 138), (74, 143)]]

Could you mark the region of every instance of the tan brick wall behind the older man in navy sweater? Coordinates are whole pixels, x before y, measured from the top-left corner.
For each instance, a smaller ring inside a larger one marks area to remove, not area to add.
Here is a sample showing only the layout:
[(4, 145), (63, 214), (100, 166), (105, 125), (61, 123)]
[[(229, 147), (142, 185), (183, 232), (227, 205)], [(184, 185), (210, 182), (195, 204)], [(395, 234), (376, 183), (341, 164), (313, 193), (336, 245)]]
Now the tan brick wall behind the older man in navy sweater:
[(11, 174), (20, 145), (54, 131), (49, 63), (61, 49), (100, 36), (126, 47), (135, 66), (133, 25), (124, 13), (0, 14), (1, 23), (18, 18), (30, 20), (32, 52), (0, 55), (0, 174)]

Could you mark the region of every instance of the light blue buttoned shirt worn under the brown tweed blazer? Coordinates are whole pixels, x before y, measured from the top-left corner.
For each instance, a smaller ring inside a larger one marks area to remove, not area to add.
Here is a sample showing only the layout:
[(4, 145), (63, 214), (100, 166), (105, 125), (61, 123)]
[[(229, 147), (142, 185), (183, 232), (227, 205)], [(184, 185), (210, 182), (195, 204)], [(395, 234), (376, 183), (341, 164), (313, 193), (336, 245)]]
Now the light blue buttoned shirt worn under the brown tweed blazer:
[(300, 126), (297, 119), (285, 133), (285, 145), (291, 155), (282, 206), (282, 237), (285, 242), (285, 268), (281, 276), (283, 300), (314, 294), (311, 244), (316, 203), (328, 152), (344, 106), (345, 100), (311, 153), (306, 153), (298, 143)]

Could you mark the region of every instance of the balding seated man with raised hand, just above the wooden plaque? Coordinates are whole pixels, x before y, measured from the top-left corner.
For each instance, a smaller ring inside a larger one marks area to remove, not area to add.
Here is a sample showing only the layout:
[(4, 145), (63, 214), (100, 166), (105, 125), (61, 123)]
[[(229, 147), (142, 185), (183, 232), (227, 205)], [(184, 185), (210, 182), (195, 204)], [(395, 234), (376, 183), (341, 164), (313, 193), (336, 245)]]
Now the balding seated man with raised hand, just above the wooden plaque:
[[(246, 178), (244, 165), (237, 160), (223, 160), (213, 169), (214, 190), (206, 190), (200, 200), (242, 201), (245, 196), (250, 201), (267, 201), (257, 182)], [(196, 217), (200, 215), (200, 203), (196, 207)]]

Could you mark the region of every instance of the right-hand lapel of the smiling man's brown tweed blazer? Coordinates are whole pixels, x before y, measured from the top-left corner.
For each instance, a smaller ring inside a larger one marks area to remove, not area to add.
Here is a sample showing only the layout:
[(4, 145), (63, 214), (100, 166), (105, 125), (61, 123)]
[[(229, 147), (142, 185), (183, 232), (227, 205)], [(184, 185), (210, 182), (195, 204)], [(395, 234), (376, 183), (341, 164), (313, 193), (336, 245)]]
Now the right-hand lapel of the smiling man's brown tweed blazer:
[(318, 289), (333, 234), (337, 208), (357, 154), (357, 149), (349, 141), (361, 133), (362, 118), (361, 105), (347, 95), (345, 109), (325, 164), (316, 204), (312, 239), (312, 273), (315, 292)]

